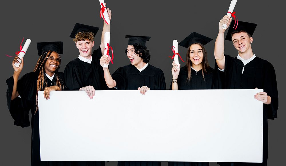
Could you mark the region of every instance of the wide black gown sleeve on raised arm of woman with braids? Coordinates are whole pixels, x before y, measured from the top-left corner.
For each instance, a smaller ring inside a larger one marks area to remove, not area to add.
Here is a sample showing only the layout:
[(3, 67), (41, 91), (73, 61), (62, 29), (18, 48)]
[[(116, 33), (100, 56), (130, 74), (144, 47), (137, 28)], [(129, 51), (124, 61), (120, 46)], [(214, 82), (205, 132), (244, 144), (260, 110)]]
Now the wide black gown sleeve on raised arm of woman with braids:
[(34, 77), (33, 73), (25, 74), (17, 83), (17, 91), (20, 97), (11, 100), (14, 79), (13, 76), (6, 80), (8, 89), (6, 92), (7, 106), (14, 119), (14, 125), (21, 127), (30, 126), (29, 111), (34, 101)]

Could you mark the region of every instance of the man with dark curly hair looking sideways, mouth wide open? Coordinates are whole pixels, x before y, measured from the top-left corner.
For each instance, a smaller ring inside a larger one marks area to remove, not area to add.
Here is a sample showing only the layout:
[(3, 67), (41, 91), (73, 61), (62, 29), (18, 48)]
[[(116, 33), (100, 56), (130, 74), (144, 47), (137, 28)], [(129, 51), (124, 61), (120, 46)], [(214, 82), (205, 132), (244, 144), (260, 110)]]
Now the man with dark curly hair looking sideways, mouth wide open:
[(150, 37), (130, 35), (125, 37), (129, 38), (125, 53), (131, 62), (130, 65), (118, 68), (111, 76), (109, 69), (103, 67), (109, 60), (105, 55), (100, 59), (107, 86), (115, 87), (117, 90), (140, 90), (143, 95), (150, 89), (166, 89), (163, 71), (148, 64), (151, 56), (146, 41), (149, 41)]

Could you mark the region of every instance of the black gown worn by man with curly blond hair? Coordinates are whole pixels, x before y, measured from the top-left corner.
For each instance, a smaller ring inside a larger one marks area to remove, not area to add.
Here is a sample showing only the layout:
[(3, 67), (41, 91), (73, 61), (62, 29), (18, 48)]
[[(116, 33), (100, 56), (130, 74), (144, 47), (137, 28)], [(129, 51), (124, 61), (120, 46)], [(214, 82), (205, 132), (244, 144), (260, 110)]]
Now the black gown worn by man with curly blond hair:
[(82, 87), (93, 86), (95, 90), (107, 90), (103, 69), (99, 59), (102, 57), (100, 47), (92, 53), (91, 64), (78, 58), (70, 61), (65, 67), (65, 85), (71, 91)]

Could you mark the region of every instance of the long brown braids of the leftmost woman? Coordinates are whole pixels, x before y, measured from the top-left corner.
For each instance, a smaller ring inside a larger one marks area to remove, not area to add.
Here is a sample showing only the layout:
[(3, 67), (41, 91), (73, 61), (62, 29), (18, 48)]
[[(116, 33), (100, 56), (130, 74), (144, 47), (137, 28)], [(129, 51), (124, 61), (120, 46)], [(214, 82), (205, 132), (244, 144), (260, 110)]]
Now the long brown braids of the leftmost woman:
[[(43, 91), (45, 90), (45, 87), (48, 87), (48, 80), (47, 77), (45, 76), (45, 63), (48, 59), (48, 57), (51, 55), (53, 51), (45, 51), (42, 53), (42, 55), (40, 56), (39, 60), (37, 61), (37, 64), (35, 66), (35, 69), (33, 72), (37, 72), (39, 73), (38, 76), (38, 81), (37, 81), (37, 95), (36, 95), (36, 111), (35, 113), (38, 111), (39, 107), (38, 107), (38, 91)], [(57, 72), (59, 72), (59, 67), (61, 65), (61, 56), (59, 56), (59, 66), (57, 68), (57, 70), (55, 71), (55, 85), (58, 86), (62, 91), (66, 90), (67, 87), (65, 86), (65, 84), (63, 83), (63, 80), (61, 79), (61, 77), (59, 77), (59, 75), (57, 74)]]

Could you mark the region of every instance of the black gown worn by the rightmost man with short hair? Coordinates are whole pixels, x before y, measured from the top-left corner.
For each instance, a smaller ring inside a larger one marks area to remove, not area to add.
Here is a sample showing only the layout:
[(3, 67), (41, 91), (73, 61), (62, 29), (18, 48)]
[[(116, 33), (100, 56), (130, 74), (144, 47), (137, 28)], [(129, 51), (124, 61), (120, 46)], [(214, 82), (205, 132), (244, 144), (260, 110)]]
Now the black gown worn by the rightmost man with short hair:
[[(244, 67), (244, 71), (242, 73)], [(237, 57), (225, 55), (225, 72), (218, 69), (216, 75), (223, 89), (263, 89), (271, 97), (271, 104), (263, 104), (263, 163), (218, 163), (221, 166), (253, 166), (267, 165), (268, 157), (268, 122), (267, 119), (277, 118), (278, 90), (274, 67), (266, 60), (255, 57), (246, 65)]]

